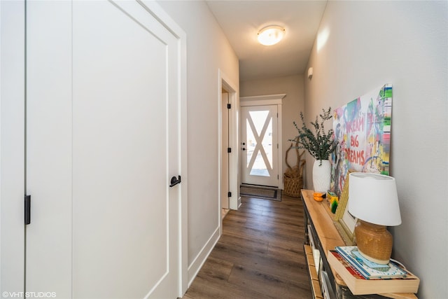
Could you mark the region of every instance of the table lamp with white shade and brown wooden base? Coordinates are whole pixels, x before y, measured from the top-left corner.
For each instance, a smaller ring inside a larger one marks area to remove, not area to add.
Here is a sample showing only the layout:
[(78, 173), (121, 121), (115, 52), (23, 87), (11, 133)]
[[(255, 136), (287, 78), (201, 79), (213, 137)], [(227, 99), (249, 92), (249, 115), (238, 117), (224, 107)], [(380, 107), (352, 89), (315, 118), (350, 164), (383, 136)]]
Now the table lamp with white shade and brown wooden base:
[(386, 226), (401, 224), (395, 179), (384, 174), (349, 174), (349, 212), (358, 218), (355, 237), (360, 254), (387, 264), (393, 242)]

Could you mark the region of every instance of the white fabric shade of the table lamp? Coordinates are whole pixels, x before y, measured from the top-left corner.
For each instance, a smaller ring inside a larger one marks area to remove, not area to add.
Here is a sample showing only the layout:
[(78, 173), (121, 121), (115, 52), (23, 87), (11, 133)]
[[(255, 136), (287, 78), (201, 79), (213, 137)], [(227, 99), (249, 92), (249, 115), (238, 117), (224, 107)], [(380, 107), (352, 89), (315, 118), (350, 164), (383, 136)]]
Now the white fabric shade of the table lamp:
[(392, 176), (353, 172), (349, 174), (349, 212), (370, 223), (401, 224), (397, 187)]

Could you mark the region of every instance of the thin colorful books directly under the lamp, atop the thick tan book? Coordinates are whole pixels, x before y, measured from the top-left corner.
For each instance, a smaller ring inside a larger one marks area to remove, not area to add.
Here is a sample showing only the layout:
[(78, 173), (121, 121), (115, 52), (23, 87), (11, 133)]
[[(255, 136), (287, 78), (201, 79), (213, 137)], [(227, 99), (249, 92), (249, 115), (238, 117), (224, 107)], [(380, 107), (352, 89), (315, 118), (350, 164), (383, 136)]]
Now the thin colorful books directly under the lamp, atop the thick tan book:
[(393, 263), (381, 265), (373, 263), (360, 255), (357, 246), (337, 246), (336, 251), (346, 258), (367, 279), (405, 277), (406, 271)]

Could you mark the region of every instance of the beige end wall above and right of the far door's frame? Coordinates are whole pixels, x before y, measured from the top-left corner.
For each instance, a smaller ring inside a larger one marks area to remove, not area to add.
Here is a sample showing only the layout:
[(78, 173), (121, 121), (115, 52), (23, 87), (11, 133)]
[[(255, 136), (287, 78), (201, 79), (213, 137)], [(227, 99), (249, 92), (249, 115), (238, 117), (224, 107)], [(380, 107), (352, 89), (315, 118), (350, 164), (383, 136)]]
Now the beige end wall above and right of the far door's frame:
[[(239, 85), (239, 94), (241, 97), (251, 97), (254, 95), (278, 95), (286, 94), (282, 104), (282, 124), (283, 135), (283, 172), (287, 169), (285, 162), (285, 152), (291, 142), (288, 139), (294, 139), (297, 130), (293, 126), (293, 120), (300, 123), (300, 111), (304, 110), (304, 76), (284, 76), (278, 78), (258, 79), (251, 81), (241, 81)], [(297, 162), (295, 151), (291, 150), (288, 154), (288, 164), (293, 167)]]

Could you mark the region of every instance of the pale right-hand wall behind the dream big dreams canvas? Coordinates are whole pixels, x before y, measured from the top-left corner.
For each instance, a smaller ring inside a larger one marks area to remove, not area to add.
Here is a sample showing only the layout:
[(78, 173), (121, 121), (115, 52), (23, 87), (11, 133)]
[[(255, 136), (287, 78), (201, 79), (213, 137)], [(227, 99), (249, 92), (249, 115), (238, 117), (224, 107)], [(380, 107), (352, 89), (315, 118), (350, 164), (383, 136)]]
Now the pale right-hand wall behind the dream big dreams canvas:
[(308, 120), (393, 84), (393, 257), (421, 278), (419, 298), (448, 298), (447, 20), (447, 1), (329, 1), (304, 79)]

